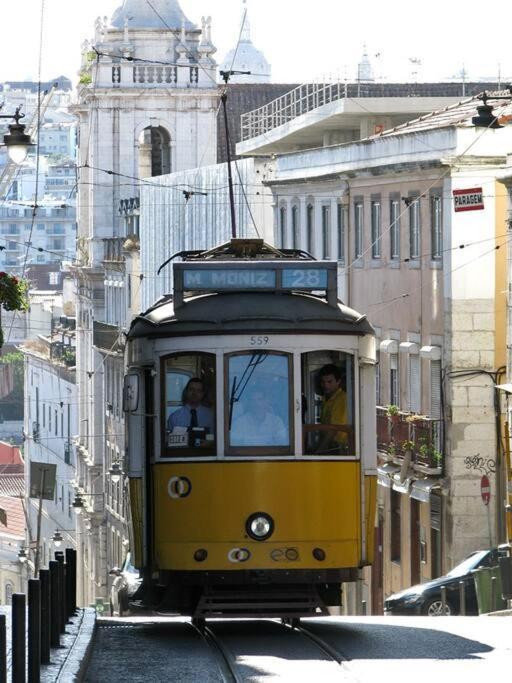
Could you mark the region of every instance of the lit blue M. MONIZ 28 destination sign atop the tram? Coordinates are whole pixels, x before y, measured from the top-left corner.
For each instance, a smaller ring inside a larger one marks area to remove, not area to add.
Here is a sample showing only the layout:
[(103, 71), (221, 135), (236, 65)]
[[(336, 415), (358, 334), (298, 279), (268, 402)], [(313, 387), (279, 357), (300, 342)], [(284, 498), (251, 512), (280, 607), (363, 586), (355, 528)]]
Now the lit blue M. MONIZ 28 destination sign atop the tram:
[(272, 268), (190, 268), (183, 272), (183, 289), (185, 291), (219, 291), (233, 290), (273, 290), (281, 289), (322, 290), (327, 288), (326, 268), (289, 268), (281, 270), (281, 281), (278, 282), (278, 270)]

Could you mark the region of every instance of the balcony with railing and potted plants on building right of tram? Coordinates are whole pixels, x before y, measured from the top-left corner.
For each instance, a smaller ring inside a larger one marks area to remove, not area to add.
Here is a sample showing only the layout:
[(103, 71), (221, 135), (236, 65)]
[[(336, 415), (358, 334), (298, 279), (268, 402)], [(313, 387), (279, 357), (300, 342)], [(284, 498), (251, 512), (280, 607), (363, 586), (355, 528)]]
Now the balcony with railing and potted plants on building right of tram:
[(377, 407), (377, 450), (388, 461), (402, 465), (407, 453), (411, 467), (423, 474), (441, 475), (443, 470), (442, 420), (398, 412), (389, 415)]

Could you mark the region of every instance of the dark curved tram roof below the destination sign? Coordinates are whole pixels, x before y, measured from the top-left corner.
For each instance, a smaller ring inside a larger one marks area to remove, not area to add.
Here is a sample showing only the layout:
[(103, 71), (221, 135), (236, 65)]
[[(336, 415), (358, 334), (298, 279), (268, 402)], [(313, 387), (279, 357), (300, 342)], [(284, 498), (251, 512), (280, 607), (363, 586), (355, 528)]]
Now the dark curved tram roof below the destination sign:
[(220, 334), (374, 334), (365, 315), (311, 294), (227, 292), (202, 294), (174, 305), (157, 302), (133, 321), (129, 339)]

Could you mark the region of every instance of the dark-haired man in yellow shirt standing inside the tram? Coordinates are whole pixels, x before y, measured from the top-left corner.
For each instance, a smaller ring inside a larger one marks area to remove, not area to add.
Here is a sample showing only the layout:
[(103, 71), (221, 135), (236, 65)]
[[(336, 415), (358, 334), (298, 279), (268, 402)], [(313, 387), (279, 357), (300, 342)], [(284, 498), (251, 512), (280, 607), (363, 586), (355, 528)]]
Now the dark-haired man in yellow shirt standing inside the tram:
[[(343, 389), (343, 375), (341, 369), (334, 365), (324, 365), (319, 372), (320, 387), (323, 400), (320, 410), (320, 424), (347, 424), (347, 394)], [(317, 451), (319, 453), (346, 452), (348, 435), (344, 432), (326, 432), (322, 434)]]

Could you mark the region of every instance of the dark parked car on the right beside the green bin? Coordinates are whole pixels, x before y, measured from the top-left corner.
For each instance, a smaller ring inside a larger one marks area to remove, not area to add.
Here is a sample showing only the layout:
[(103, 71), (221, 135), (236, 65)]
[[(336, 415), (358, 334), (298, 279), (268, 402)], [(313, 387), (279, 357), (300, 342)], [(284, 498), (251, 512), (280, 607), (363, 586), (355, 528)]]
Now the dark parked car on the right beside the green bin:
[(384, 601), (385, 615), (425, 615), (438, 617), (443, 614), (441, 587), (446, 587), (446, 606), (444, 614), (460, 614), (459, 585), (464, 581), (465, 603), (467, 615), (478, 615), (475, 580), (472, 571), (480, 567), (494, 567), (499, 557), (504, 557), (506, 551), (493, 548), (492, 550), (477, 550), (468, 555), (465, 560), (454, 567), (445, 576), (433, 581), (411, 586), (399, 593), (390, 595)]

